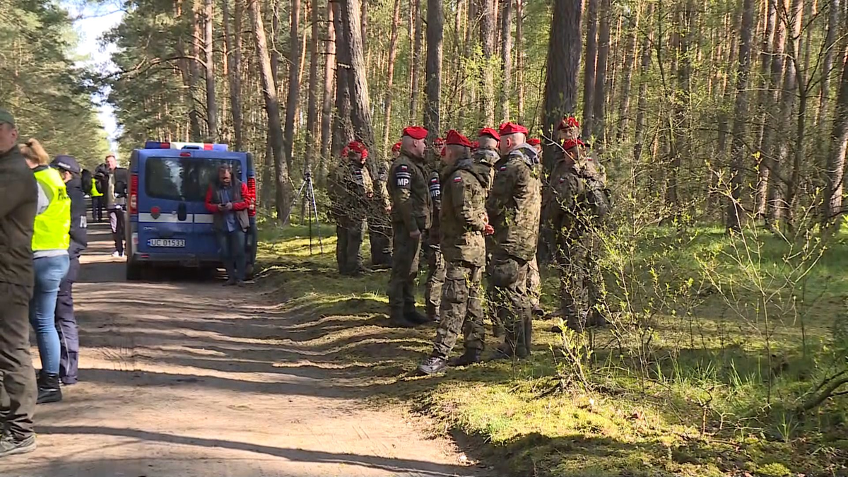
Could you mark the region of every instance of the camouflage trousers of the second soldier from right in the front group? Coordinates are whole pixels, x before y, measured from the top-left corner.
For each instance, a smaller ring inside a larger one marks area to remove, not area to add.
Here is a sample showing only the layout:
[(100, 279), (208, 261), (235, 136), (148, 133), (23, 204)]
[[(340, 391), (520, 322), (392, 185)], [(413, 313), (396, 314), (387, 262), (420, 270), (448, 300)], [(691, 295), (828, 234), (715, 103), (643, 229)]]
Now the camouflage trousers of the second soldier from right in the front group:
[(495, 316), (503, 323), (506, 350), (526, 356), (531, 349), (533, 315), (527, 296), (527, 261), (494, 255), (489, 276)]

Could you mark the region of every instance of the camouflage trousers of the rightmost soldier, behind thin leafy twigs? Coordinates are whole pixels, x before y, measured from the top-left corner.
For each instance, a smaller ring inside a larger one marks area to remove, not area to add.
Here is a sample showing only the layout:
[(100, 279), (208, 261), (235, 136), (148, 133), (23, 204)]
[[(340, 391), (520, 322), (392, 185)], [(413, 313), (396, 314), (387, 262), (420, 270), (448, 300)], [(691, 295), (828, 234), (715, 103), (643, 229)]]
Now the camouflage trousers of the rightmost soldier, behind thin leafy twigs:
[(560, 306), (569, 328), (583, 331), (600, 326), (605, 318), (599, 300), (604, 293), (598, 267), (600, 242), (594, 233), (562, 234), (557, 238), (555, 259), (560, 269)]

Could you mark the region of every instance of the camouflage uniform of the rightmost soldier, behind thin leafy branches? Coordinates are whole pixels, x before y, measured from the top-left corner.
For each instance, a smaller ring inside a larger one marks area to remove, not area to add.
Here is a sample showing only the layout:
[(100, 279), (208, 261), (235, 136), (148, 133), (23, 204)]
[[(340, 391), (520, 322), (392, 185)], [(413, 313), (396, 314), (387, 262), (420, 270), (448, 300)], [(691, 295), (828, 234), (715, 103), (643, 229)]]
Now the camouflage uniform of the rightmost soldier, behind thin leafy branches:
[(554, 256), (560, 268), (561, 312), (568, 327), (577, 331), (605, 323), (599, 307), (604, 283), (595, 226), (609, 203), (606, 196), (606, 210), (599, 210), (593, 199), (606, 194), (604, 183), (603, 166), (575, 146), (557, 161), (544, 188), (545, 217), (555, 233)]

